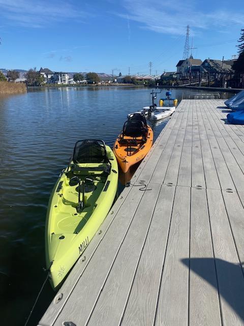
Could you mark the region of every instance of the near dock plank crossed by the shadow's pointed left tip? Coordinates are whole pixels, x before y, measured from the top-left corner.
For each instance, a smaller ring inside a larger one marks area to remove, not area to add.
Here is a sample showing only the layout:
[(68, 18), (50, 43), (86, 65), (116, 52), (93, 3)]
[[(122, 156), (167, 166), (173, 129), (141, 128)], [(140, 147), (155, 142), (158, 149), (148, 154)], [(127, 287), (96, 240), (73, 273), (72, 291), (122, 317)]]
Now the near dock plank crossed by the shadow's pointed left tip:
[(191, 325), (221, 325), (206, 191), (196, 188), (191, 188), (189, 302)]

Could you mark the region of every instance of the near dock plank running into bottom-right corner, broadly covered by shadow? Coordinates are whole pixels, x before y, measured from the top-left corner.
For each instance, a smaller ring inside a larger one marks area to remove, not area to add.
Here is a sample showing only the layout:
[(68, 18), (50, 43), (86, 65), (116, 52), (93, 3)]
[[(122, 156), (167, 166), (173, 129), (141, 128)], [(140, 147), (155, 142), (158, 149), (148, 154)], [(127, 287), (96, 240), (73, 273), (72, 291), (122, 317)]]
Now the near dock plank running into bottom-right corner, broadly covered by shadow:
[(243, 325), (244, 284), (222, 193), (207, 189), (223, 325)]

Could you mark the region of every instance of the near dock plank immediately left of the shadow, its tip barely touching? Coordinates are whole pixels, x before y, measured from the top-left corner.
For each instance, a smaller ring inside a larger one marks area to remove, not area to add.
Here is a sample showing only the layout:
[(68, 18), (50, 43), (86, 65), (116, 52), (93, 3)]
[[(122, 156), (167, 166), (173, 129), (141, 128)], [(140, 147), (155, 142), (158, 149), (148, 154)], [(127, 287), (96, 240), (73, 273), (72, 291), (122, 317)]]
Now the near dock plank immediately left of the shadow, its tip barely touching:
[(177, 186), (158, 298), (155, 326), (188, 325), (190, 188)]

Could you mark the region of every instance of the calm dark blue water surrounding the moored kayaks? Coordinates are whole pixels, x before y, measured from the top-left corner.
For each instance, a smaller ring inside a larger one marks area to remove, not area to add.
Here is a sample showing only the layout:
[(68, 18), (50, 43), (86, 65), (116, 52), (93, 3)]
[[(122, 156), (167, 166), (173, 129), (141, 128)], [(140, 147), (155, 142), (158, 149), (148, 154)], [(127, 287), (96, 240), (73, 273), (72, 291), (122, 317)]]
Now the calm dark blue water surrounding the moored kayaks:
[[(172, 96), (180, 99), (181, 92)], [(150, 102), (150, 90), (123, 87), (32, 89), (0, 97), (1, 324), (24, 324), (45, 279), (46, 207), (75, 142), (98, 138), (112, 146), (127, 114)], [(155, 139), (167, 121), (149, 122)], [(47, 284), (29, 325), (37, 324), (53, 296)]]

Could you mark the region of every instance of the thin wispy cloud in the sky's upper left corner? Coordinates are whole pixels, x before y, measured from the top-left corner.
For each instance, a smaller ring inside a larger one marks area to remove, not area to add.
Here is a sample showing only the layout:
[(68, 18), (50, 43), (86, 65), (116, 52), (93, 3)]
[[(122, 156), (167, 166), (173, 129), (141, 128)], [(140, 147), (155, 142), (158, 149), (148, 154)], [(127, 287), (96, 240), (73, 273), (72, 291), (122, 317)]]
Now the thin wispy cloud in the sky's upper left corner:
[(77, 10), (68, 1), (47, 0), (0, 0), (0, 17), (5, 21), (10, 20), (12, 24), (43, 28), (53, 22), (66, 19), (78, 19), (89, 16), (88, 13)]

